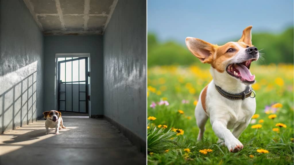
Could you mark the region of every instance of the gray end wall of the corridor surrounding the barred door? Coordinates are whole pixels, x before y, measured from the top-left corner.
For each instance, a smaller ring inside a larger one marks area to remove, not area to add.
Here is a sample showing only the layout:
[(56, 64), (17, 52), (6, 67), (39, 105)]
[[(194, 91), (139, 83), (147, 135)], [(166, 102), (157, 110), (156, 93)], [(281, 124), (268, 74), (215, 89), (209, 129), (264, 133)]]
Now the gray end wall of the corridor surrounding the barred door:
[(55, 109), (55, 54), (90, 53), (91, 115), (103, 115), (102, 36), (45, 36), (44, 111)]

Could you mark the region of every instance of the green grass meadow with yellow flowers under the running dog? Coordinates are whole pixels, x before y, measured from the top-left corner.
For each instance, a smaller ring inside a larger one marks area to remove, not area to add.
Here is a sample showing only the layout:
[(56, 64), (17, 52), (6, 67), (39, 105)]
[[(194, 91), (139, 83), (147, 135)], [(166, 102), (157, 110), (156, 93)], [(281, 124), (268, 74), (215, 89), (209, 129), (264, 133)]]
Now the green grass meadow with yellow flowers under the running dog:
[[(165, 124), (166, 131), (173, 128), (183, 129), (183, 135), (177, 138), (177, 145), (165, 153), (159, 150), (148, 154), (148, 164), (293, 164), (293, 65), (252, 65), (250, 70), (255, 74), (257, 83), (253, 85), (256, 92), (256, 114), (264, 122), (260, 129), (252, 129), (250, 124), (241, 134), (239, 140), (244, 145), (242, 151), (230, 153), (224, 146), (217, 145), (210, 122), (206, 123), (203, 141), (197, 142), (198, 127), (194, 116), (193, 102), (203, 87), (210, 81), (208, 65), (181, 67), (161, 66), (148, 68), (148, 116), (157, 119), (149, 121), (153, 126)], [(152, 102), (160, 100), (169, 102), (168, 106), (149, 107)], [(188, 100), (183, 104), (182, 100)], [(275, 119), (268, 119), (265, 106), (281, 103), (282, 108), (275, 112)], [(183, 110), (184, 114), (178, 113)], [(287, 128), (274, 132), (276, 123), (284, 123)], [(160, 145), (160, 144), (158, 144)], [(191, 152), (186, 153), (184, 149)], [(212, 149), (207, 155), (200, 149)], [(266, 149), (267, 154), (258, 153), (257, 149)], [(249, 155), (254, 155), (251, 158)]]

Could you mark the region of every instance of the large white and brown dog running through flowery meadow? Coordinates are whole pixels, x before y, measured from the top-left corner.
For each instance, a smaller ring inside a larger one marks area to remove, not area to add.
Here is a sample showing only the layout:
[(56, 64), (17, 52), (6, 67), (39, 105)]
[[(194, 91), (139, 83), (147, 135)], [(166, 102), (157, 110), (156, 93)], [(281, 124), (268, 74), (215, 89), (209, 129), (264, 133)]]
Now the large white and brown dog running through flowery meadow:
[[(201, 91), (195, 108), (196, 122), (199, 127), (198, 139), (201, 140), (205, 124), (210, 123), (218, 143), (224, 141), (230, 152), (243, 149), (238, 140), (240, 134), (250, 123), (255, 113), (255, 92), (251, 84), (255, 75), (249, 71), (252, 61), (258, 60), (259, 52), (251, 43), (251, 28), (244, 29), (238, 42), (228, 42), (218, 46), (187, 37), (186, 45), (202, 63), (211, 65), (213, 80)], [(251, 93), (254, 96), (251, 96)], [(232, 132), (230, 131), (232, 129)]]

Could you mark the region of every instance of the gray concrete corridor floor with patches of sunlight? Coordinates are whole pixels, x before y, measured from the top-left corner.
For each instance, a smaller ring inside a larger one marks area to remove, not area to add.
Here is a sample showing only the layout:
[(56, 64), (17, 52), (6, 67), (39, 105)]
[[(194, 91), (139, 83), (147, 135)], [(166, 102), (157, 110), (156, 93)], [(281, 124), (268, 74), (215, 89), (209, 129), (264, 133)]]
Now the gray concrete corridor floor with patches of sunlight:
[(146, 164), (116, 127), (104, 119), (64, 117), (66, 129), (45, 135), (45, 120), (0, 134), (0, 164)]

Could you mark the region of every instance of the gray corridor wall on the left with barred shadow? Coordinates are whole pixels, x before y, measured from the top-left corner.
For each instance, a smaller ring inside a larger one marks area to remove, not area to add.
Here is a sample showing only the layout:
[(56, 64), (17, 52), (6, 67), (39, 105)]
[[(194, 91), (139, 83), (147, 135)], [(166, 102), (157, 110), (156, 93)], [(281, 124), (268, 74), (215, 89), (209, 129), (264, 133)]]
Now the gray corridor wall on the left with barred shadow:
[(42, 116), (44, 37), (24, 1), (0, 5), (1, 133)]

